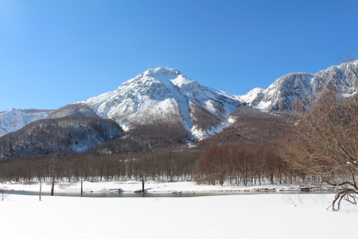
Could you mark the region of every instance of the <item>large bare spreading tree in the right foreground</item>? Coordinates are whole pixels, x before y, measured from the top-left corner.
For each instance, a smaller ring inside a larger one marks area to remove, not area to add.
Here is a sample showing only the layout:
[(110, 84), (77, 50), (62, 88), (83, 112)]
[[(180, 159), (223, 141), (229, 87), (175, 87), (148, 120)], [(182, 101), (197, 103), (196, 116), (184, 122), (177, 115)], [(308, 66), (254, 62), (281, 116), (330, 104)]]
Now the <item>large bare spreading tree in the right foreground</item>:
[(336, 193), (332, 202), (357, 205), (358, 195), (358, 97), (343, 98), (330, 89), (322, 93), (311, 111), (296, 105), (292, 129), (299, 139), (282, 150), (292, 169), (320, 179)]

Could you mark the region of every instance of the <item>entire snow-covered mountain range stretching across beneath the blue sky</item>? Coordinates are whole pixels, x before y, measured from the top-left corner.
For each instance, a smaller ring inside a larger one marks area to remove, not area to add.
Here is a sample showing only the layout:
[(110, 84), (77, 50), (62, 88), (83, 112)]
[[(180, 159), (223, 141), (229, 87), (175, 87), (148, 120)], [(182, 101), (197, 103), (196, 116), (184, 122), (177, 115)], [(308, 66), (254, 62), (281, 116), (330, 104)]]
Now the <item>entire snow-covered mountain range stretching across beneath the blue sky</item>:
[(0, 113), (0, 136), (24, 125), (48, 118), (91, 116), (113, 119), (124, 130), (138, 124), (180, 122), (191, 138), (203, 139), (230, 125), (239, 105), (265, 112), (289, 112), (295, 101), (315, 101), (327, 85), (350, 96), (357, 93), (358, 75), (349, 64), (332, 66), (316, 74), (290, 73), (275, 80), (268, 89), (255, 88), (235, 96), (207, 88), (176, 69), (149, 69), (116, 90), (76, 102), (56, 111), (12, 109)]

